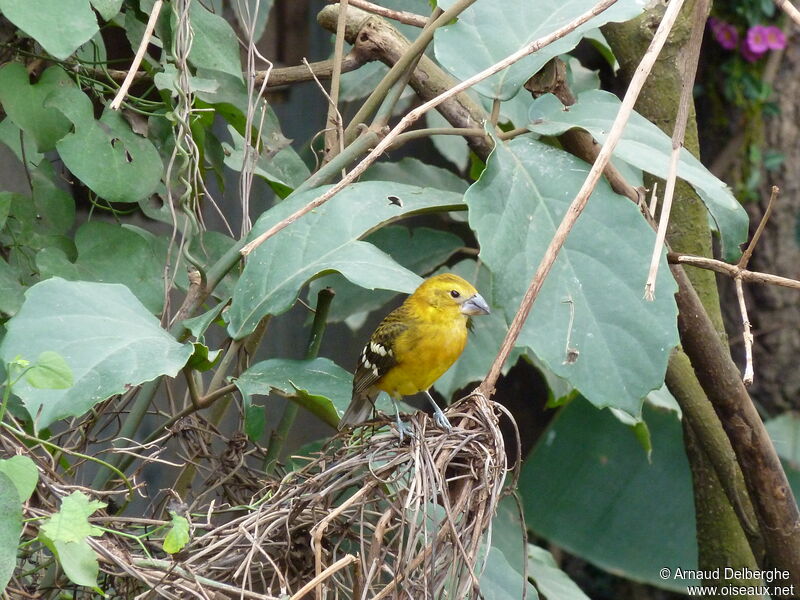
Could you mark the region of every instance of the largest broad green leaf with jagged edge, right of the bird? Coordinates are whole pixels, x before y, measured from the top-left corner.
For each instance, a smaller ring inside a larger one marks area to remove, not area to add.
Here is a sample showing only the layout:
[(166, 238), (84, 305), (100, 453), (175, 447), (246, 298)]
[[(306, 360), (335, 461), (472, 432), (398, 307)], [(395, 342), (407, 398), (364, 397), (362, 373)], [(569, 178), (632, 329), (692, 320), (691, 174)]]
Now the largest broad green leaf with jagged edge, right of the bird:
[[(467, 192), (481, 259), (494, 275), (492, 303), (509, 322), (588, 170), (562, 150), (520, 137), (496, 145)], [(601, 181), (518, 340), (592, 403), (633, 416), (663, 383), (678, 342), (677, 286), (663, 257), (655, 301), (642, 297), (654, 241), (636, 205)], [(567, 360), (567, 346), (576, 360)]]

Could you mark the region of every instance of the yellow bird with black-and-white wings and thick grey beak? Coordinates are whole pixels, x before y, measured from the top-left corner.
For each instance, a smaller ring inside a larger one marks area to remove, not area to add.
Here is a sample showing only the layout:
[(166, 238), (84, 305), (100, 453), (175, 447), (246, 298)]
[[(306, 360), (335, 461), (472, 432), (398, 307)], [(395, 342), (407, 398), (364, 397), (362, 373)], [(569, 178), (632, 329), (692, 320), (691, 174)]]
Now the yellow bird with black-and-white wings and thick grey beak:
[(366, 421), (375, 398), (386, 392), (394, 403), (402, 439), (408, 429), (400, 420), (396, 400), (424, 392), (437, 424), (449, 430), (450, 422), (428, 388), (464, 351), (469, 317), (488, 314), (483, 297), (458, 275), (443, 273), (423, 281), (381, 321), (361, 351), (353, 377), (353, 397), (339, 429)]

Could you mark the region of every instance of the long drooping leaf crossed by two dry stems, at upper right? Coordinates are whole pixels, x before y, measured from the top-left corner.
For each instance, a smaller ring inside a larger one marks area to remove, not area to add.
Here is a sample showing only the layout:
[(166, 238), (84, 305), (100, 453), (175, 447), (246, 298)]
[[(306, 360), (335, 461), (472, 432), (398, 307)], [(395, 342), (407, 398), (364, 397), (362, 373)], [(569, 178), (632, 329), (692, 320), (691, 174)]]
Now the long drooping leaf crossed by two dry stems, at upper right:
[[(558, 135), (580, 127), (603, 143), (619, 107), (619, 98), (602, 90), (584, 92), (569, 110), (555, 96), (547, 94), (531, 106), (529, 128), (541, 135)], [(614, 150), (618, 158), (662, 178), (667, 176), (671, 153), (670, 137), (635, 111)], [(741, 255), (739, 245), (747, 241), (748, 217), (742, 205), (728, 186), (685, 148), (681, 149), (678, 176), (695, 188), (708, 208), (720, 232), (725, 259), (736, 261)]]

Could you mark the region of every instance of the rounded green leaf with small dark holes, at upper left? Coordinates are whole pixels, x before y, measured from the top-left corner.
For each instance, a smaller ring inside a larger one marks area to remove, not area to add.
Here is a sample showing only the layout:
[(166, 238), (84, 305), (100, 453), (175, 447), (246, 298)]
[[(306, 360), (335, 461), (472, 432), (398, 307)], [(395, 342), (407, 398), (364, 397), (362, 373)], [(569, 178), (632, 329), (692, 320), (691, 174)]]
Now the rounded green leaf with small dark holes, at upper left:
[(67, 168), (98, 196), (137, 202), (155, 190), (163, 170), (158, 151), (133, 133), (119, 112), (106, 109), (95, 121), (92, 101), (76, 88), (51, 95), (45, 107), (57, 108), (74, 125), (56, 148)]

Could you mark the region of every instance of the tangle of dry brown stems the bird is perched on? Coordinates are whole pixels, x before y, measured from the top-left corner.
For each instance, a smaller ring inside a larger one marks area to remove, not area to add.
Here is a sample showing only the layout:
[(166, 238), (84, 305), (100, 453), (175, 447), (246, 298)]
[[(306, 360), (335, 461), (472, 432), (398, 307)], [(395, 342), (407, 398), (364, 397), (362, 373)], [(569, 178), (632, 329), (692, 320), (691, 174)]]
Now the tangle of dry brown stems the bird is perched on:
[[(239, 492), (250, 489), (247, 503), (212, 499), (198, 507), (195, 514), (204, 516), (195, 517), (191, 541), (171, 559), (154, 558), (165, 556), (161, 536), (143, 545), (120, 535), (141, 531), (143, 521), (168, 522), (97, 517), (109, 529), (88, 541), (107, 576), (104, 591), (111, 598), (478, 598), (509, 470), (501, 414), (508, 416), (476, 392), (448, 410), (451, 432), (417, 413), (404, 443), (393, 431), (372, 431), (383, 421), (339, 435), (282, 479), (241, 480)], [(46, 456), (11, 436), (0, 440), (39, 467), (26, 516), (53, 514), (74, 487), (64, 488)], [(220, 461), (216, 477), (230, 484), (241, 464)], [(19, 576), (11, 586), (31, 589)]]

